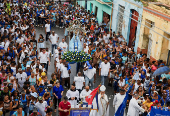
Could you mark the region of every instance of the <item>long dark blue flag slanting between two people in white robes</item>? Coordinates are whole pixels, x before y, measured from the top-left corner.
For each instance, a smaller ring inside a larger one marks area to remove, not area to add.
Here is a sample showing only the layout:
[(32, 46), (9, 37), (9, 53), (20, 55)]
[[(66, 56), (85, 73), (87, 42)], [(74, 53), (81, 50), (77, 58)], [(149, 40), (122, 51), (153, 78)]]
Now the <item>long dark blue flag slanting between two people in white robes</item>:
[(124, 109), (125, 109), (125, 107), (126, 107), (126, 102), (127, 102), (128, 98), (129, 98), (129, 93), (130, 93), (132, 87), (133, 87), (133, 84), (129, 87), (128, 91), (126, 92), (126, 96), (125, 96), (122, 104), (121, 104), (121, 105), (119, 106), (119, 108), (117, 109), (117, 111), (116, 111), (116, 113), (115, 113), (115, 116), (123, 116), (123, 114), (124, 114)]

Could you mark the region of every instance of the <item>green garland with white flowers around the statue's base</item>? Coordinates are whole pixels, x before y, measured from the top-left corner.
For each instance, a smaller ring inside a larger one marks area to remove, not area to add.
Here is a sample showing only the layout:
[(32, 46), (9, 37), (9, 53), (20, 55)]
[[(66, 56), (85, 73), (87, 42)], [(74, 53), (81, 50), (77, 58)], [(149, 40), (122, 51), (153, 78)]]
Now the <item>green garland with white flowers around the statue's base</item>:
[(68, 51), (62, 55), (62, 59), (65, 59), (67, 62), (70, 62), (70, 63), (72, 62), (75, 63), (75, 62), (86, 62), (86, 61), (92, 60), (92, 57), (89, 54), (85, 53), (84, 51), (81, 51), (81, 52)]

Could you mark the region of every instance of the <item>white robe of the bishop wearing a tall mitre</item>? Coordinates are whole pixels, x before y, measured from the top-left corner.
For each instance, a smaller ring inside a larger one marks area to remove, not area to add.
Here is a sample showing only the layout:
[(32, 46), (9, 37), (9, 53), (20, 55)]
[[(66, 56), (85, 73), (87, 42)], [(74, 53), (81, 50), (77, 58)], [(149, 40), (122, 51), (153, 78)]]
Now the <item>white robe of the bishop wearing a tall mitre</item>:
[(93, 100), (93, 109), (90, 112), (90, 116), (109, 116), (109, 104), (107, 95), (104, 94), (104, 99), (101, 98), (101, 94), (98, 95), (98, 106), (99, 110), (97, 109), (96, 99)]

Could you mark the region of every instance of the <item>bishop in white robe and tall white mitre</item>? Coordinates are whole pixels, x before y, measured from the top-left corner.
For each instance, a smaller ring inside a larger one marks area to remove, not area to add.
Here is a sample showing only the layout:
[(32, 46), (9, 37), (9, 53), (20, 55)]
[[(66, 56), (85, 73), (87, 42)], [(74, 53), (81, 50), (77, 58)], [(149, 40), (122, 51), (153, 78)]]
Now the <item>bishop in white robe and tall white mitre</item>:
[[(98, 95), (98, 107), (99, 110), (96, 116), (109, 116), (109, 101), (105, 94), (106, 87), (102, 85), (100, 87), (100, 94)], [(93, 109), (97, 109), (96, 100), (93, 100)]]

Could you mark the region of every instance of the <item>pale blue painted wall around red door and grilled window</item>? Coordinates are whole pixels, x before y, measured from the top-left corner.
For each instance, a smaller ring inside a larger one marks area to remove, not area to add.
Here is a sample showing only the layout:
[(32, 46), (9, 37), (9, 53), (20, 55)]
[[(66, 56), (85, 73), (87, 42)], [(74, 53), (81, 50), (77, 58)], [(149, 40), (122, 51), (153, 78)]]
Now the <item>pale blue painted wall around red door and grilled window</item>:
[[(135, 2), (134, 0), (113, 0), (114, 8), (113, 8), (113, 17), (112, 17), (112, 30), (115, 31), (116, 33), (117, 33), (119, 5), (125, 7), (124, 17), (123, 17), (123, 26), (122, 26), (122, 35), (126, 39), (127, 43), (129, 43), (131, 9), (134, 9), (139, 13), (138, 21), (141, 22), (143, 5), (141, 2)], [(141, 7), (138, 7), (138, 6), (141, 6)], [(135, 40), (135, 51), (137, 51), (137, 47), (138, 47), (140, 26), (141, 24), (138, 23), (137, 32), (136, 32), (136, 40)]]

